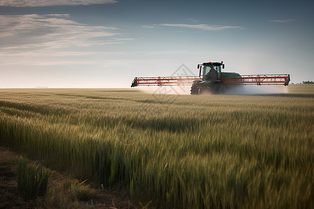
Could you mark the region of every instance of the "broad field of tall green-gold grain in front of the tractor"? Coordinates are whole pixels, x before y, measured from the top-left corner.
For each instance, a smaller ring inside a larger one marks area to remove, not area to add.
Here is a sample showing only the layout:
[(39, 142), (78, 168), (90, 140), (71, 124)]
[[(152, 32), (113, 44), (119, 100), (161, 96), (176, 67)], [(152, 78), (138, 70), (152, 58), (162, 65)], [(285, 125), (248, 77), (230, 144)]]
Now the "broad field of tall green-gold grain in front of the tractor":
[(314, 95), (1, 90), (0, 141), (169, 208), (314, 206)]

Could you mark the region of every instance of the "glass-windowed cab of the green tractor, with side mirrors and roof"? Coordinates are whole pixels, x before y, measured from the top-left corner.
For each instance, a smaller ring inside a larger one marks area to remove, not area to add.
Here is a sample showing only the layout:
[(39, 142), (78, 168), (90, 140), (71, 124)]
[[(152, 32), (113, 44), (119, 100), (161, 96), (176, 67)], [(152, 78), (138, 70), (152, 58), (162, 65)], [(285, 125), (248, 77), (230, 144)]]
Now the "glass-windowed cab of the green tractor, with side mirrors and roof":
[(203, 81), (217, 81), (221, 78), (221, 68), (225, 68), (223, 61), (221, 63), (202, 63), (197, 65), (197, 69), (200, 70), (200, 77)]

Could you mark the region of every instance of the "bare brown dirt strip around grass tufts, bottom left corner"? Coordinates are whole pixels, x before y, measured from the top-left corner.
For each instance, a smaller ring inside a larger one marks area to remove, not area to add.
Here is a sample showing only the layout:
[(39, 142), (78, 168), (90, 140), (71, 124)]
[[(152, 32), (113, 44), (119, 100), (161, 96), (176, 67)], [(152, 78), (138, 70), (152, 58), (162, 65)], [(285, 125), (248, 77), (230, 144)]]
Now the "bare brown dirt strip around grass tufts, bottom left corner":
[(86, 187), (96, 192), (94, 196), (84, 201), (71, 199), (70, 192), (63, 188), (69, 178), (58, 171), (52, 171), (46, 196), (25, 201), (17, 191), (16, 164), (20, 156), (0, 146), (0, 208), (140, 208), (138, 201), (130, 200), (125, 192), (94, 189), (89, 185)]

